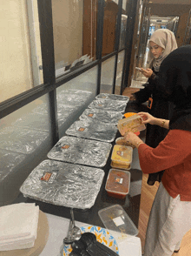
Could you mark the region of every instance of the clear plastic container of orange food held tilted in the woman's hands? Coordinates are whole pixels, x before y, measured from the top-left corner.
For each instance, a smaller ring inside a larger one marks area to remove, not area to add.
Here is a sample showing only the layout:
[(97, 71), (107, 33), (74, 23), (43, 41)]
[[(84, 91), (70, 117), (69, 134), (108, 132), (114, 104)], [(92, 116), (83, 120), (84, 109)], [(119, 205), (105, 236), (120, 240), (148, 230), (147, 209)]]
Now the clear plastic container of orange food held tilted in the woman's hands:
[(146, 129), (146, 126), (142, 123), (142, 118), (139, 115), (133, 115), (129, 118), (119, 120), (117, 128), (122, 136), (124, 136), (125, 133), (129, 131), (143, 131)]

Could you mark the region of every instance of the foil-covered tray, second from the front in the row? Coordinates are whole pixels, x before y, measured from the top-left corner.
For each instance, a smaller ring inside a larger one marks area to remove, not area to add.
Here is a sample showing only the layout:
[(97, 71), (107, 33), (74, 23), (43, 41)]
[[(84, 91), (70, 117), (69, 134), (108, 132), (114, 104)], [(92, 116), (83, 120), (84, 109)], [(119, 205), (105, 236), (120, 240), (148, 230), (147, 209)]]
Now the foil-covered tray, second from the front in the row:
[(107, 142), (63, 136), (48, 153), (48, 158), (80, 165), (106, 165), (112, 145)]

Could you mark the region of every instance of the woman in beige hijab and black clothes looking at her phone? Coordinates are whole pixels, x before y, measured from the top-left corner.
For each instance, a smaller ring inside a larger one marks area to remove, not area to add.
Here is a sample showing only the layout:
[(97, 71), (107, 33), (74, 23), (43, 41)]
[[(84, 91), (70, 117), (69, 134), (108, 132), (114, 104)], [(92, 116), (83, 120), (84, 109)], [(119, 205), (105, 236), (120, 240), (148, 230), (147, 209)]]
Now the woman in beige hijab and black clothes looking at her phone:
[[(133, 94), (135, 103), (142, 104), (148, 101), (148, 112), (156, 118), (171, 118), (173, 104), (162, 98), (161, 91), (157, 91), (155, 84), (161, 62), (171, 51), (177, 48), (175, 35), (166, 29), (155, 30), (148, 42), (148, 69), (142, 69), (142, 74), (148, 77), (145, 88)], [(132, 99), (132, 98), (130, 98)], [(168, 130), (157, 125), (147, 125), (145, 143), (155, 148), (168, 134)], [(155, 181), (161, 182), (163, 171), (149, 174), (148, 185), (154, 185)]]

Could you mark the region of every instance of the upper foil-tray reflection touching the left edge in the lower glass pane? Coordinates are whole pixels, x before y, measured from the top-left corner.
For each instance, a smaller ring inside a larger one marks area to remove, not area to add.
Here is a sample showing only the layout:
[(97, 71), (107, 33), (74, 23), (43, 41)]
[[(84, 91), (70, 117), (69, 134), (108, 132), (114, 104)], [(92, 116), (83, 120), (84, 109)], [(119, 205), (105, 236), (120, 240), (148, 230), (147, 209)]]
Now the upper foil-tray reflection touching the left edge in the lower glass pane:
[(0, 148), (11, 152), (30, 154), (49, 137), (45, 131), (7, 127), (0, 131)]

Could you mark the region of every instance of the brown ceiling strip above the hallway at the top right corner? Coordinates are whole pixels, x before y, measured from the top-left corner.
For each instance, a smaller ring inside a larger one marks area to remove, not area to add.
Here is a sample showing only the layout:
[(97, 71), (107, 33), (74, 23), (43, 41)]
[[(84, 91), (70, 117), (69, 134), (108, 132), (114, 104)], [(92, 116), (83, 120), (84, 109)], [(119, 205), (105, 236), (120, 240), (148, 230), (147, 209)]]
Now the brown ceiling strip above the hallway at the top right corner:
[(149, 0), (151, 15), (159, 17), (176, 17), (188, 13), (191, 0)]

